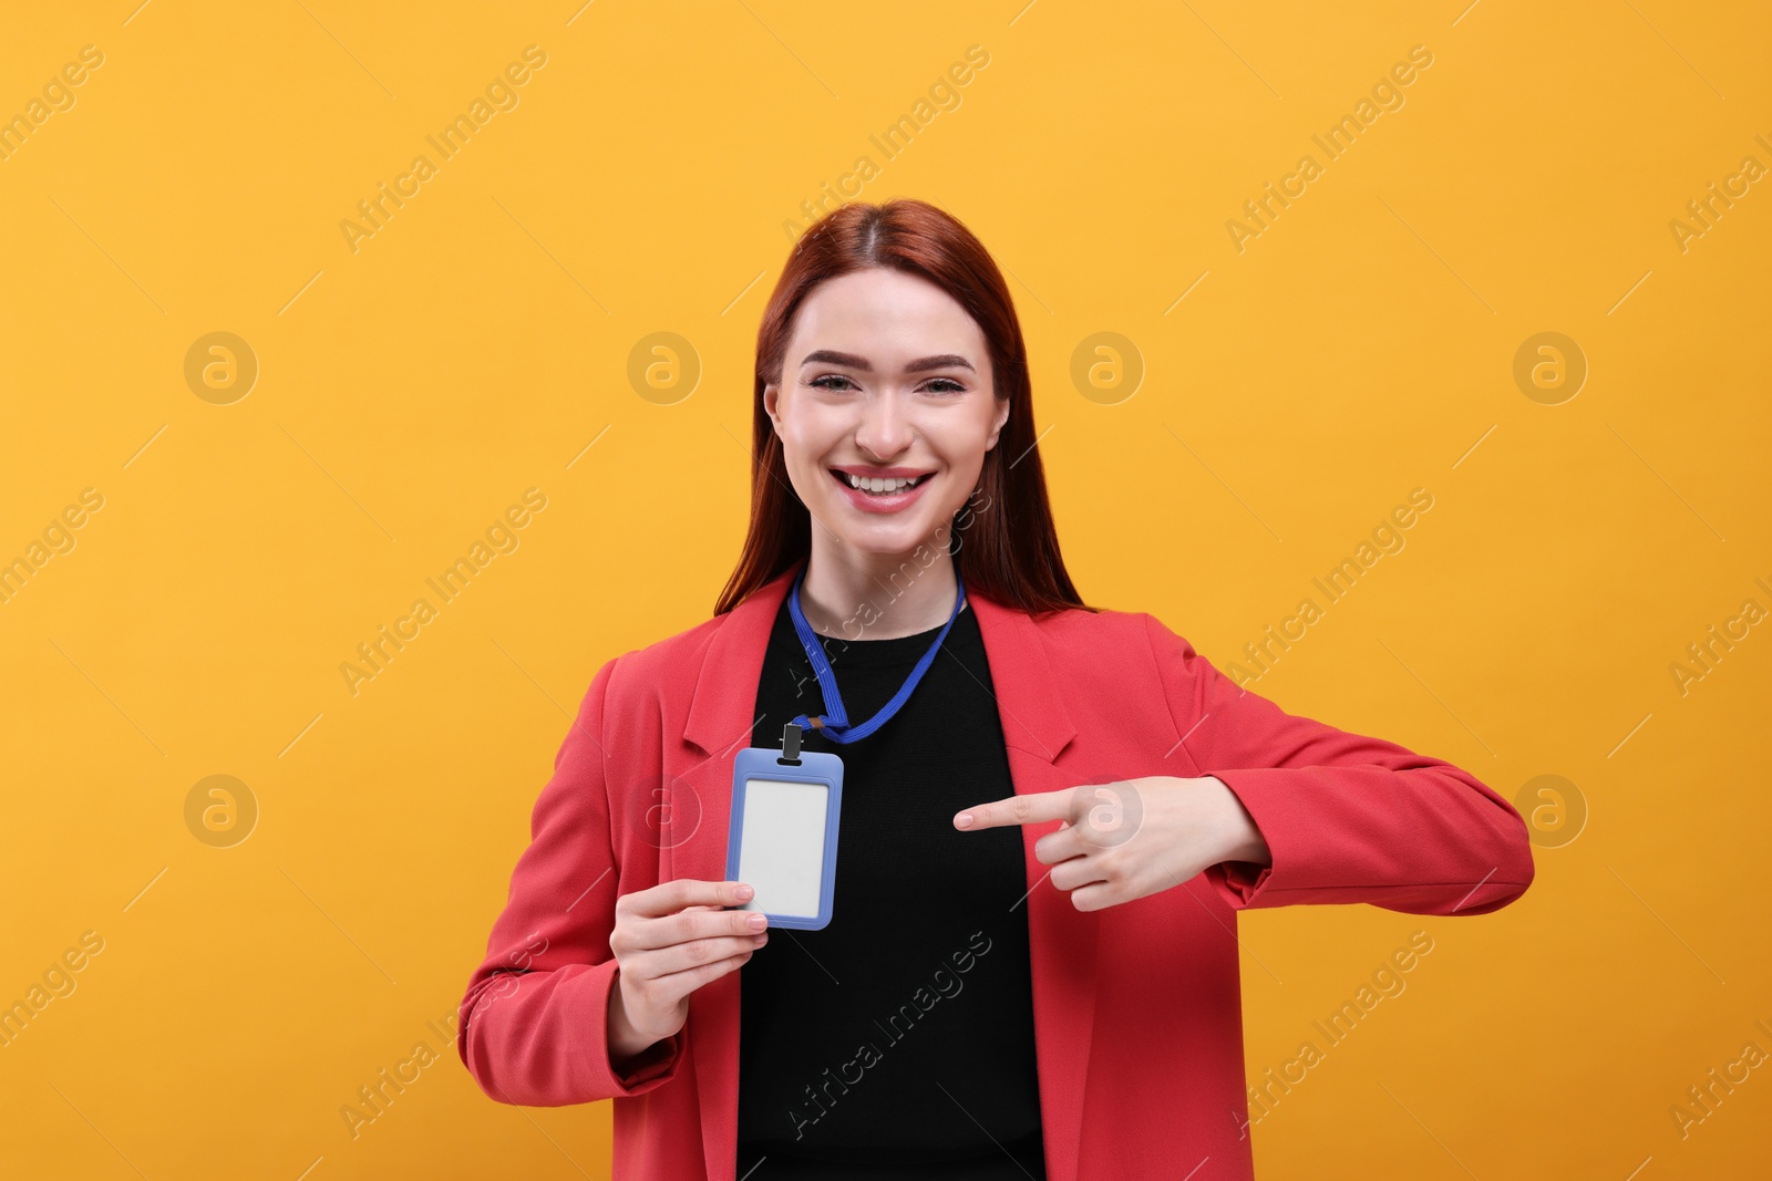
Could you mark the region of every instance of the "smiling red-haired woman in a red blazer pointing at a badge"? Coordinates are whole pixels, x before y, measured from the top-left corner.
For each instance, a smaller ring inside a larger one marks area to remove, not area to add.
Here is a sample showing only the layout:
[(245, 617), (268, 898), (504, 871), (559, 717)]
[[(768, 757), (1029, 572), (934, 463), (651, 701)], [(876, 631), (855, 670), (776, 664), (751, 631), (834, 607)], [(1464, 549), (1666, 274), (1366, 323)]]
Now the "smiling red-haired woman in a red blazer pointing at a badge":
[[(804, 234), (753, 439), (714, 618), (592, 678), (461, 1006), (489, 1096), (615, 1100), (615, 1176), (1249, 1177), (1237, 912), (1531, 882), (1469, 772), (1083, 604), (1008, 290), (948, 214)], [(769, 937), (723, 880), (732, 765), (789, 722), (843, 758), (838, 876)]]

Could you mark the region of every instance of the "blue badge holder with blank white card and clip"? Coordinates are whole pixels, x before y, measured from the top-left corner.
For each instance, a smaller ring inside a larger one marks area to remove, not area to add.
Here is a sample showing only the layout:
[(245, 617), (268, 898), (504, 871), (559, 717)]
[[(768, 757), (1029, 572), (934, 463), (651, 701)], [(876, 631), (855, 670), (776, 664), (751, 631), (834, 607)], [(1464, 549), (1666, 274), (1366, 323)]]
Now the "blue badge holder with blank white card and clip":
[(799, 749), (801, 728), (781, 729), (781, 749), (744, 747), (732, 765), (727, 882), (757, 892), (737, 910), (760, 910), (769, 926), (820, 931), (836, 892), (836, 832), (843, 760)]

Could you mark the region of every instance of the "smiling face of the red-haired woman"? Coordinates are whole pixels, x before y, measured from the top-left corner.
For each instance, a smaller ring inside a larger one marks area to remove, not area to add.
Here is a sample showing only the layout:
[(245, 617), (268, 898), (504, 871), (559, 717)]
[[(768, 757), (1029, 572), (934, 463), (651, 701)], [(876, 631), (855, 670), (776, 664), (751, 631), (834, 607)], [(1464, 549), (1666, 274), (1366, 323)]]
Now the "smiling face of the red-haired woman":
[(812, 290), (764, 409), (799, 499), (865, 554), (944, 551), (944, 528), (1008, 418), (978, 322), (929, 280), (890, 267)]

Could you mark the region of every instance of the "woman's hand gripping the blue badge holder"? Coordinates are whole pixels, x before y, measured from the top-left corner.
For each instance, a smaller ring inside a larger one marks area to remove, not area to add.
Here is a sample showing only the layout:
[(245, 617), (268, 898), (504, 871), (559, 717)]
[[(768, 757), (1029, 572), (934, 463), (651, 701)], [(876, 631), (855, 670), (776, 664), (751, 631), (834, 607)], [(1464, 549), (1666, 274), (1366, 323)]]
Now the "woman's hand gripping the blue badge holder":
[(769, 921), (760, 912), (728, 910), (751, 894), (739, 882), (677, 878), (615, 899), (611, 1064), (682, 1029), (689, 1020), (689, 993), (732, 972), (769, 940)]

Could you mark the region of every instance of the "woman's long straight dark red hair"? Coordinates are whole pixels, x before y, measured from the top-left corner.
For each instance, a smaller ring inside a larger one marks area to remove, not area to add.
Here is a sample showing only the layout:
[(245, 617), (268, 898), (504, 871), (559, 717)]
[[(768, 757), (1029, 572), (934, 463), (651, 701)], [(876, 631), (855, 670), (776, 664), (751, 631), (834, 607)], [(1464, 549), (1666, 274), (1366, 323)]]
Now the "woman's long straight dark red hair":
[(780, 384), (794, 313), (813, 287), (865, 267), (897, 267), (953, 296), (983, 331), (996, 397), (1008, 421), (985, 452), (978, 490), (955, 513), (948, 551), (966, 591), (1040, 614), (1083, 607), (1058, 552), (1045, 469), (1035, 448), (1033, 386), (1021, 320), (1001, 271), (971, 230), (941, 209), (913, 200), (847, 204), (808, 227), (789, 255), (757, 329), (757, 391), (751, 411), (751, 524), (744, 552), (714, 614), (812, 554), (812, 513), (794, 492), (781, 439), (764, 409), (764, 388)]

